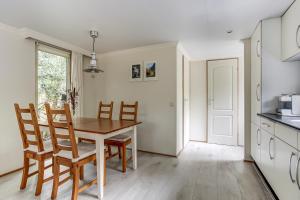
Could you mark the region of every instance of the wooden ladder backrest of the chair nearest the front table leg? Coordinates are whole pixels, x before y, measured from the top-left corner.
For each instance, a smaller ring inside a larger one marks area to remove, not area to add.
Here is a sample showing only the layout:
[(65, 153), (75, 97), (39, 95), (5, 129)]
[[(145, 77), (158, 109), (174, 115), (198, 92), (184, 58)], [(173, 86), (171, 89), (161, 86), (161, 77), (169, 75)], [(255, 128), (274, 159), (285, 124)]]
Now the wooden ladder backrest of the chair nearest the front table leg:
[[(69, 104), (65, 104), (63, 109), (52, 109), (50, 104), (45, 103), (45, 108), (54, 154), (60, 151), (69, 151), (74, 159), (78, 158), (78, 148)], [(60, 116), (59, 118), (65, 118), (66, 120), (55, 119), (57, 115)], [(63, 133), (61, 129), (66, 129), (67, 133)]]

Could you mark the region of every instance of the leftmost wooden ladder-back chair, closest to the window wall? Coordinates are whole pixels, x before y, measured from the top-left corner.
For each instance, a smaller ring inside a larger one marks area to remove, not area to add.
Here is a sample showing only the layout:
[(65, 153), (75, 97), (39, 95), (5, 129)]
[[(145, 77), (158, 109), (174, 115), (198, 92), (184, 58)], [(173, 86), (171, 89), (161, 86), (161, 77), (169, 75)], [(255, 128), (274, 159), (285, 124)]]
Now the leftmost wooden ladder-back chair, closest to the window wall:
[[(24, 152), (24, 167), (20, 189), (26, 188), (27, 179), (29, 177), (38, 174), (35, 190), (35, 195), (38, 196), (41, 194), (43, 183), (53, 178), (49, 177), (44, 179), (44, 171), (52, 166), (52, 164), (45, 166), (45, 161), (52, 159), (53, 148), (51, 142), (43, 142), (34, 105), (29, 104), (29, 108), (20, 108), (19, 104), (15, 103), (14, 106)], [(26, 119), (24, 119), (25, 115), (27, 115)], [(38, 162), (38, 170), (29, 174), (30, 159)]]

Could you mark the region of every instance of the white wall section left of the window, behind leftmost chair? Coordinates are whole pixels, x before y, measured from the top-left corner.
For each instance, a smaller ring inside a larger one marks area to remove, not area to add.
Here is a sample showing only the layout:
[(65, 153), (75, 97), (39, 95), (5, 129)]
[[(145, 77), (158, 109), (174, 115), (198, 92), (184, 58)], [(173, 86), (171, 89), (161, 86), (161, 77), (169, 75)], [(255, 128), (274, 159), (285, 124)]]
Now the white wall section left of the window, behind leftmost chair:
[(35, 46), (17, 30), (3, 24), (0, 24), (0, 44), (0, 174), (3, 174), (23, 164), (23, 146), (13, 103), (34, 103)]

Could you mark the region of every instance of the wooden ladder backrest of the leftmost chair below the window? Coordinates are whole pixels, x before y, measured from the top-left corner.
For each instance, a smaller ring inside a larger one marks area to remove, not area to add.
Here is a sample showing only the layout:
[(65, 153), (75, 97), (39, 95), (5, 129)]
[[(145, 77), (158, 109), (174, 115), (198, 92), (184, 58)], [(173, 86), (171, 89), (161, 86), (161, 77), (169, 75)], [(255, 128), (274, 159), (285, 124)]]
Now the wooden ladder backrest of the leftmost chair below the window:
[(29, 104), (29, 108), (20, 108), (19, 104), (15, 103), (14, 106), (22, 137), (23, 148), (27, 149), (30, 146), (34, 146), (37, 148), (38, 152), (44, 151), (43, 139), (34, 105), (31, 103)]

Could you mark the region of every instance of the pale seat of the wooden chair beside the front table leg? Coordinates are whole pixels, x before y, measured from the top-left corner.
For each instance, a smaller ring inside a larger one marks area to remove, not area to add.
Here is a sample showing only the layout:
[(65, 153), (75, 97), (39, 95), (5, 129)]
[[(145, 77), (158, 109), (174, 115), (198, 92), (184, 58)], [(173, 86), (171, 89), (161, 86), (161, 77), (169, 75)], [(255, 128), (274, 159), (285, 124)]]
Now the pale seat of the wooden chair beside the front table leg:
[[(60, 144), (65, 145), (65, 146), (71, 146), (70, 142), (68, 142), (68, 141), (62, 142)], [(73, 158), (71, 151), (64, 151), (64, 150), (61, 150), (54, 156), (67, 158), (67, 159), (72, 160), (72, 162), (77, 162), (78, 160), (82, 160), (88, 156), (96, 154), (96, 145), (95, 144), (80, 142), (77, 144), (77, 149), (78, 149), (78, 155), (79, 155), (78, 158)]]

